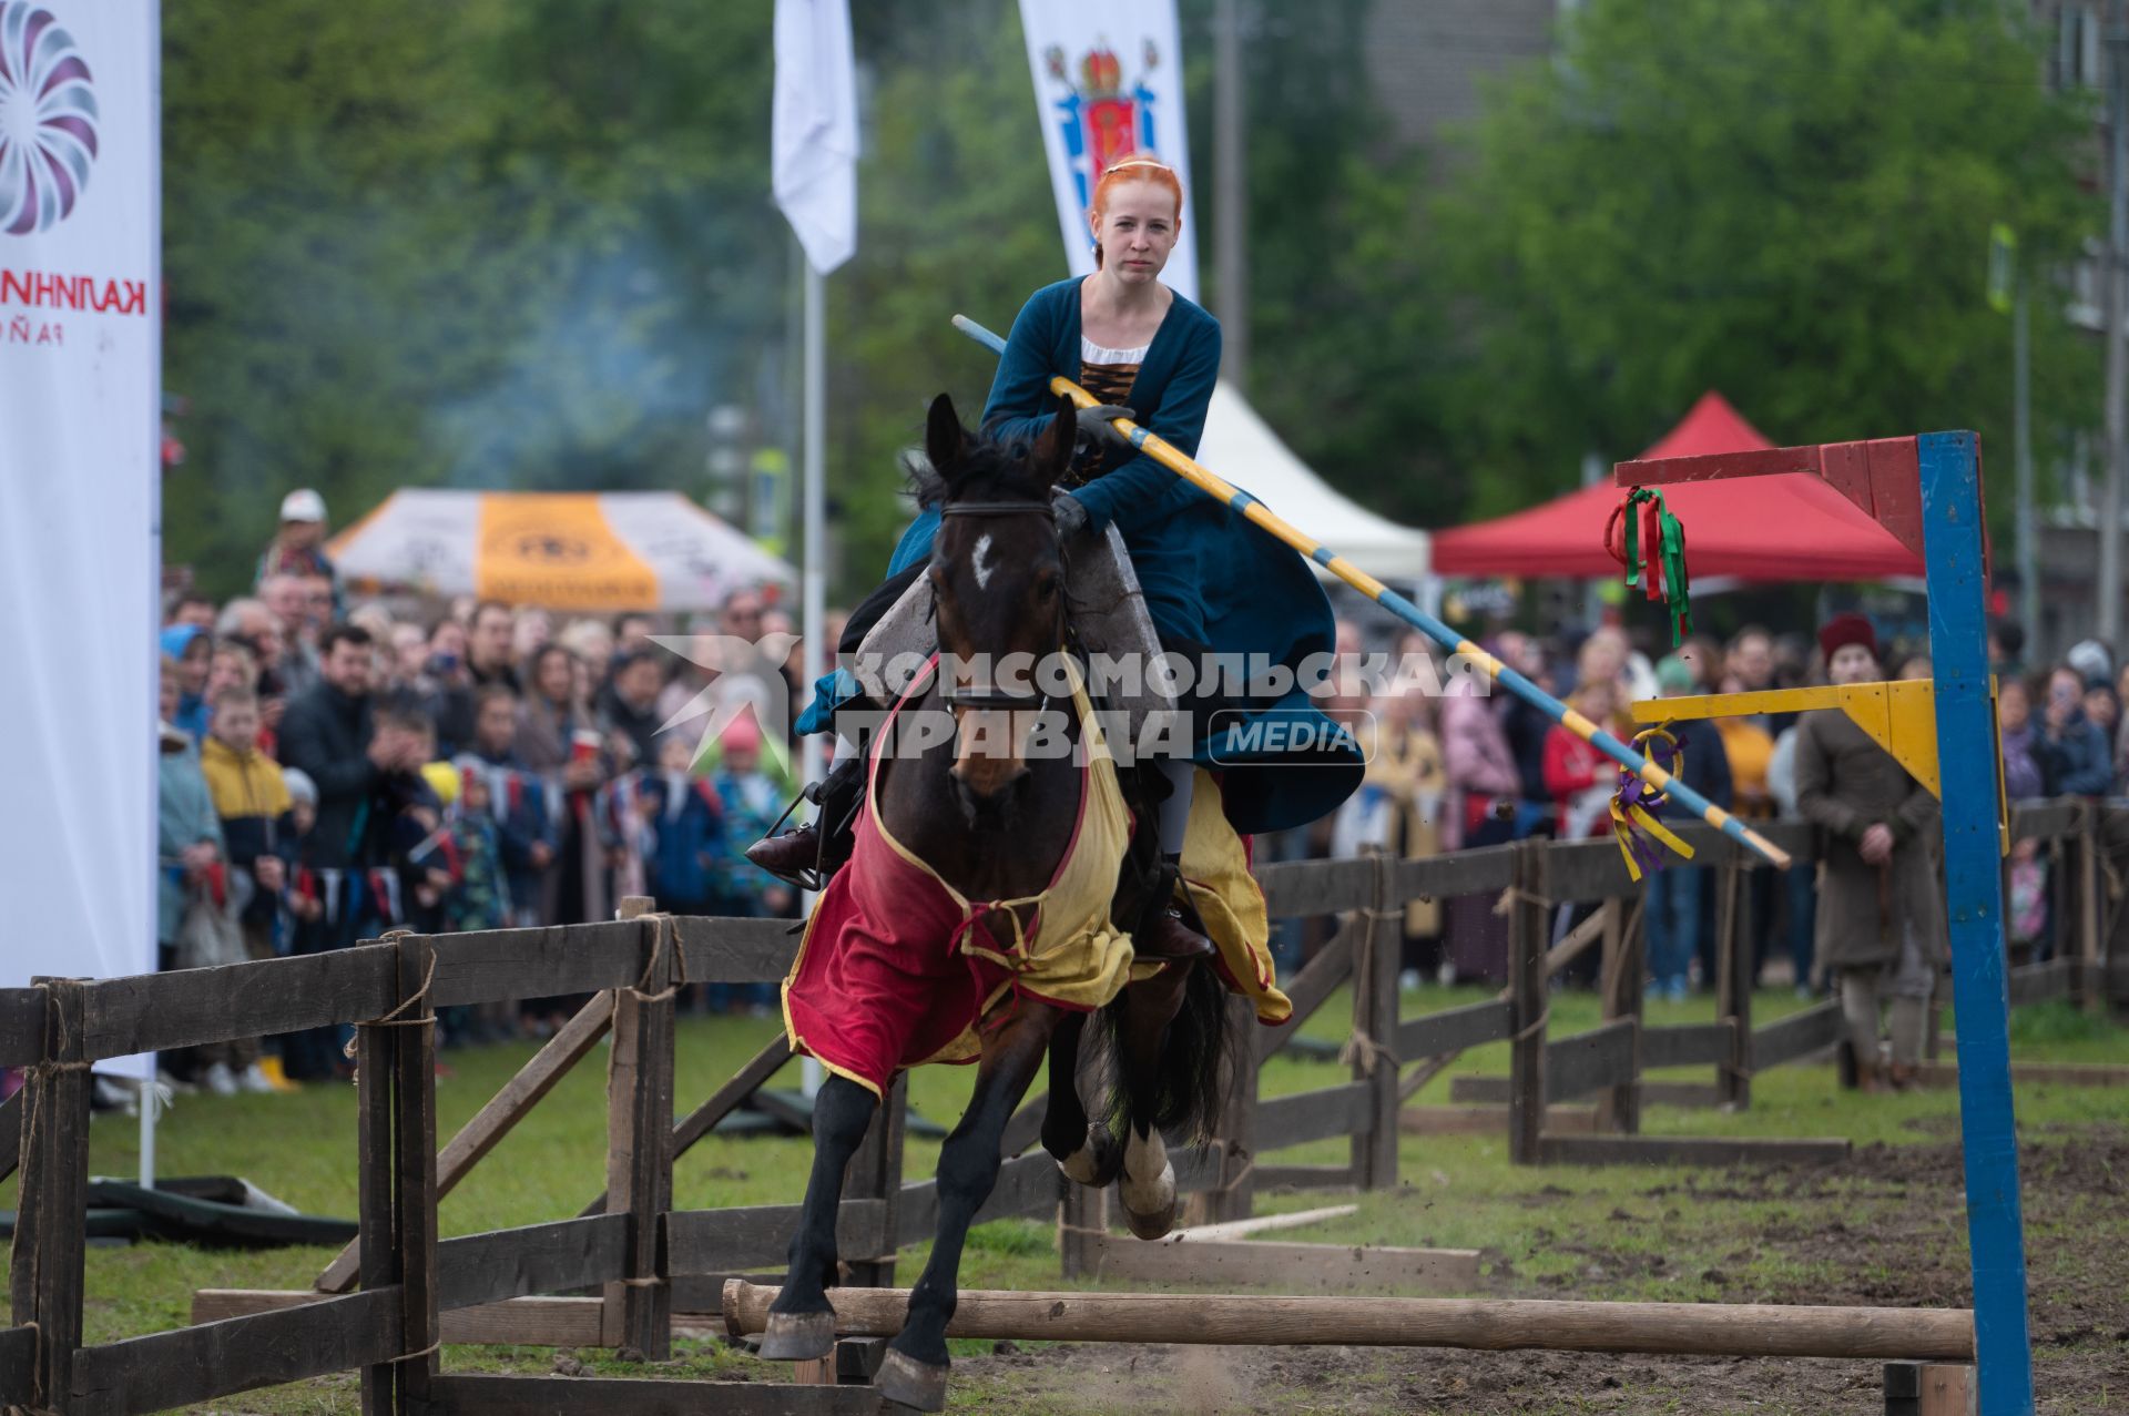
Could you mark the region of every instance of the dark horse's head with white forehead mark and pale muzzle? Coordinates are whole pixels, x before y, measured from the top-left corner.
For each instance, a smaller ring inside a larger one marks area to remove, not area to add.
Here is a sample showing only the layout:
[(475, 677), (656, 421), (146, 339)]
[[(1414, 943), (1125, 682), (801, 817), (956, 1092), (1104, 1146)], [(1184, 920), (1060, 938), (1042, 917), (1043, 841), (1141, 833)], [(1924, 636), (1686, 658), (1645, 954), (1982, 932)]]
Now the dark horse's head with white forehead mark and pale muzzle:
[(954, 781), (971, 805), (994, 803), (1028, 775), (1028, 737), (1043, 694), (1035, 666), (1064, 643), (1064, 560), (1050, 488), (1064, 473), (1077, 426), (1071, 400), (1033, 447), (969, 437), (945, 394), (933, 400), (924, 451), (939, 505), (930, 586), (939, 652), (954, 673)]

